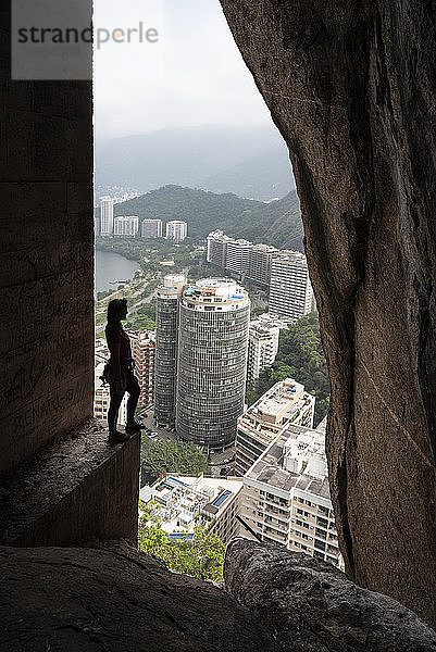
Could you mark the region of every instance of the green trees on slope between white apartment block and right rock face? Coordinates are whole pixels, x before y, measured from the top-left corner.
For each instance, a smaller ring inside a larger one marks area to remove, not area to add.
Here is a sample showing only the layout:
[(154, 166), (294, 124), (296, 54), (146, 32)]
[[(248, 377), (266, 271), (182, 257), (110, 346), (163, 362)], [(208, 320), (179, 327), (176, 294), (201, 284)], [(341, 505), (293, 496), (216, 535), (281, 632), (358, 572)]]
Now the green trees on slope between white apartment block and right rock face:
[(316, 426), (327, 413), (331, 392), (317, 313), (311, 313), (281, 331), (277, 358), (248, 389), (247, 403), (252, 405), (274, 383), (285, 378), (295, 378), (316, 397)]

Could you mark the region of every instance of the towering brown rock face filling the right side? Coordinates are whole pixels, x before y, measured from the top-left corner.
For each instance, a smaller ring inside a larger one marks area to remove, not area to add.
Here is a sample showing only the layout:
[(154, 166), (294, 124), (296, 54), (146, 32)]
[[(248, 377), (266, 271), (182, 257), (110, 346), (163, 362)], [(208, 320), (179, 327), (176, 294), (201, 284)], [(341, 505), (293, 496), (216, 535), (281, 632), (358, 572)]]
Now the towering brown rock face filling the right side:
[(347, 570), (435, 626), (435, 4), (221, 4), (294, 164)]

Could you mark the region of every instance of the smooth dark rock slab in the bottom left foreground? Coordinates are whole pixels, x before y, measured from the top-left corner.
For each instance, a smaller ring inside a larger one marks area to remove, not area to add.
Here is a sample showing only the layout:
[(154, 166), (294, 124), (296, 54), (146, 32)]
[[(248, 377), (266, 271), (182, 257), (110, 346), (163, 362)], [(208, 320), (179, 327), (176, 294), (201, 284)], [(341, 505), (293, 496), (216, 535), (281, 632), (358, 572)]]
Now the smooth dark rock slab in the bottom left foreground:
[(276, 650), (246, 607), (133, 549), (0, 548), (3, 652)]

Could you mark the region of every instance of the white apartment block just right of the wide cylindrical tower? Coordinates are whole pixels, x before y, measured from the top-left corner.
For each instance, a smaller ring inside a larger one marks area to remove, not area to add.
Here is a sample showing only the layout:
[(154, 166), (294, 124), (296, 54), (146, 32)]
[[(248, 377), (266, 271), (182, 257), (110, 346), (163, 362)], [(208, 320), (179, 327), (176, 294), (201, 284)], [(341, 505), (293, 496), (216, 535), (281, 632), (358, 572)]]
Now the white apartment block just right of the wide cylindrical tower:
[(248, 333), (247, 383), (259, 378), (271, 367), (278, 351), (279, 326), (273, 321), (256, 319), (250, 322)]

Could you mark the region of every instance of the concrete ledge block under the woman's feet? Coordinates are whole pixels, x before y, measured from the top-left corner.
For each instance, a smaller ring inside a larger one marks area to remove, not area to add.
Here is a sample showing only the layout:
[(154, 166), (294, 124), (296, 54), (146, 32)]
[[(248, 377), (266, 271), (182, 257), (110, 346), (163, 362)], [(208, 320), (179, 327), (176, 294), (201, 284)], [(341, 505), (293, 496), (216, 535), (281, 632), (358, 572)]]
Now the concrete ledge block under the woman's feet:
[(137, 537), (139, 435), (111, 446), (91, 419), (3, 480), (0, 544), (73, 546)]

